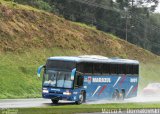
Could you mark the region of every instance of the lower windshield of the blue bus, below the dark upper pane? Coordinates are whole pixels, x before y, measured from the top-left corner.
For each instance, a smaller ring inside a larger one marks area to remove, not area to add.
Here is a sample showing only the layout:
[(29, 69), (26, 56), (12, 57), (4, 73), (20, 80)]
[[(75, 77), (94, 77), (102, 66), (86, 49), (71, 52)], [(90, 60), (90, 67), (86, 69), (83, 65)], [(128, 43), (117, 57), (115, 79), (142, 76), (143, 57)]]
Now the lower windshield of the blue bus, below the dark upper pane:
[(71, 72), (46, 70), (43, 86), (55, 88), (72, 88)]

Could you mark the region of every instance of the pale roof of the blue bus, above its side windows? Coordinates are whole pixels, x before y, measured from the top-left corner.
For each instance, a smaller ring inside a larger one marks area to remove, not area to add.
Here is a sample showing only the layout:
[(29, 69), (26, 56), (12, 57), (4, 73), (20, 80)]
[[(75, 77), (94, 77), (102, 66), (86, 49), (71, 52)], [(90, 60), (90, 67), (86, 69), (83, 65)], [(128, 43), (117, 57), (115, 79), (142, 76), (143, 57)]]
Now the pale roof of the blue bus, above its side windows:
[(127, 63), (127, 64), (139, 64), (137, 60), (120, 59), (120, 58), (107, 58), (99, 55), (83, 55), (83, 56), (55, 56), (50, 57), (48, 60), (63, 60), (74, 62), (93, 62), (93, 63)]

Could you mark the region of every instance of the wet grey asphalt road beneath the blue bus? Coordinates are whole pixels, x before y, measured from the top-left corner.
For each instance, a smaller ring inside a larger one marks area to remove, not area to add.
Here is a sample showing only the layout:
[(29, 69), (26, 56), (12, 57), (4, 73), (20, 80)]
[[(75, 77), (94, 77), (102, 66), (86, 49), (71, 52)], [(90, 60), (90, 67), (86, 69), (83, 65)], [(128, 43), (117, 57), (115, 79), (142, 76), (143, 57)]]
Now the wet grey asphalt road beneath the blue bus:
[[(122, 102), (116, 103), (150, 103), (160, 102), (160, 97), (136, 97), (126, 99)], [(105, 104), (115, 103), (107, 100), (99, 101), (87, 101), (85, 104)], [(58, 105), (51, 103), (49, 99), (35, 98), (35, 99), (3, 99), (0, 100), (0, 109), (4, 108), (24, 108), (24, 107), (45, 107), (45, 106), (61, 106), (61, 105), (73, 105), (74, 102), (60, 101)]]

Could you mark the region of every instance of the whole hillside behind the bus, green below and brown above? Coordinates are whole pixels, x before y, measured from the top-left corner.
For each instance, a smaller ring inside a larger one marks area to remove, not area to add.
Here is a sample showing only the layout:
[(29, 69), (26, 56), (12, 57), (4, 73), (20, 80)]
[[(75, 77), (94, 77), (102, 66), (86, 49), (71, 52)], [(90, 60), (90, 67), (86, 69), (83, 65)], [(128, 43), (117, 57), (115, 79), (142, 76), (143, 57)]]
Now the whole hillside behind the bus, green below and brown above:
[(40, 97), (36, 69), (54, 55), (138, 59), (141, 88), (148, 82), (160, 82), (158, 56), (94, 27), (3, 0), (0, 25), (0, 98)]

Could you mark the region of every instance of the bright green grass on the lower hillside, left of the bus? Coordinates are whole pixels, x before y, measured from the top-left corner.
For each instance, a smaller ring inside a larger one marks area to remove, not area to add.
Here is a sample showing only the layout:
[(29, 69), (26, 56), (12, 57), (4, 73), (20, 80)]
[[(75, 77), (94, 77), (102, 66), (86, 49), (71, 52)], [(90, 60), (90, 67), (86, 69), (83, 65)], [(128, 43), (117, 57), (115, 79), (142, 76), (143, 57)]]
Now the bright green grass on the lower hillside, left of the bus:
[[(35, 53), (36, 52), (36, 53)], [(40, 49), (23, 54), (0, 55), (0, 98), (41, 97), (41, 83), (36, 75), (38, 66), (45, 64), (49, 56), (77, 55), (74, 50)]]

